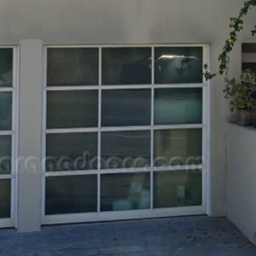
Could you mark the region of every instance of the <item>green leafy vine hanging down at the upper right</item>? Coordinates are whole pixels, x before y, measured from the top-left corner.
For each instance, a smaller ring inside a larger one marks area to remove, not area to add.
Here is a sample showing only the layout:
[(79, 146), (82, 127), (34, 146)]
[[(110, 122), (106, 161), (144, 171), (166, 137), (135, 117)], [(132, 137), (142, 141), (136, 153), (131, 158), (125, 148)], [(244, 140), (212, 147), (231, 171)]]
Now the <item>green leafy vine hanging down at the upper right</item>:
[[(256, 6), (256, 0), (248, 0), (244, 2), (243, 8), (240, 9), (239, 15), (237, 18), (230, 18), (229, 27), (231, 32), (229, 33), (229, 38), (225, 41), (223, 51), (218, 57), (219, 68), (217, 73), (211, 73), (208, 71), (208, 65), (204, 65), (205, 73), (204, 77), (206, 80), (212, 79), (216, 75), (228, 72), (229, 64), (229, 53), (232, 51), (235, 42), (237, 41), (237, 34), (243, 30), (244, 21), (243, 18), (248, 14), (253, 6)], [(252, 36), (256, 34), (256, 25), (254, 29), (251, 30)]]

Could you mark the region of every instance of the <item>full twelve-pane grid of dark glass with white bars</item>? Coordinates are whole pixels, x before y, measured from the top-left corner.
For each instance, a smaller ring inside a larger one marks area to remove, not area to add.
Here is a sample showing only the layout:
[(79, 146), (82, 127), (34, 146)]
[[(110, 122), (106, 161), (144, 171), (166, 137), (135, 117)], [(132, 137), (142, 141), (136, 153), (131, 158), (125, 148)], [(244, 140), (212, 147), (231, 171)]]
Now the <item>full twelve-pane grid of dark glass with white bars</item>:
[(46, 51), (43, 215), (203, 205), (205, 45)]

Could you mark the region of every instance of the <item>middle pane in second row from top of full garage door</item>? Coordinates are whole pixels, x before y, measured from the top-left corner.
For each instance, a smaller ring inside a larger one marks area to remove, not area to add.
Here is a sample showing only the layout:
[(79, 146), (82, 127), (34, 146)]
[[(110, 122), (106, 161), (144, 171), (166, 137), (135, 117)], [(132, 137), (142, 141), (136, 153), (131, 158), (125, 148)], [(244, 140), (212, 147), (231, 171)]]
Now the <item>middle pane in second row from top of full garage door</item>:
[(150, 89), (102, 91), (102, 126), (150, 125), (150, 119)]

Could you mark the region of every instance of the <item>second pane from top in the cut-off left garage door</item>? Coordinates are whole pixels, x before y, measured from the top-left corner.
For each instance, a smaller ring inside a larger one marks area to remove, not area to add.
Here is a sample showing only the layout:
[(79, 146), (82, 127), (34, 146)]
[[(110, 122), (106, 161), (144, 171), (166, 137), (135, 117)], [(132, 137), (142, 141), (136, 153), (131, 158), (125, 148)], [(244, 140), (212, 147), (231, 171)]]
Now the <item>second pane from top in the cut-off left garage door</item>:
[(0, 130), (12, 130), (11, 92), (0, 92)]

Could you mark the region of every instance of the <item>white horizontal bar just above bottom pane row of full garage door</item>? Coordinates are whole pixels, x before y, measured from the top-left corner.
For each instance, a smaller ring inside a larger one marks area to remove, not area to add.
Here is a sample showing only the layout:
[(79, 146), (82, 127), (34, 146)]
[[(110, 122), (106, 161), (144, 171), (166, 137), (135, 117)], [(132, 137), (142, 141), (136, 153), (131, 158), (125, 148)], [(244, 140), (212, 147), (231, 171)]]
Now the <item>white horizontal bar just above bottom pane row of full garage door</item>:
[(72, 176), (72, 175), (90, 175), (90, 174), (108, 174), (108, 173), (134, 173), (134, 172), (158, 172), (158, 171), (181, 171), (181, 170), (198, 170), (203, 169), (202, 165), (184, 165), (184, 166), (163, 166), (163, 167), (143, 167), (127, 169), (101, 169), (101, 170), (74, 170), (74, 171), (56, 171), (45, 172), (46, 177), (50, 176)]

